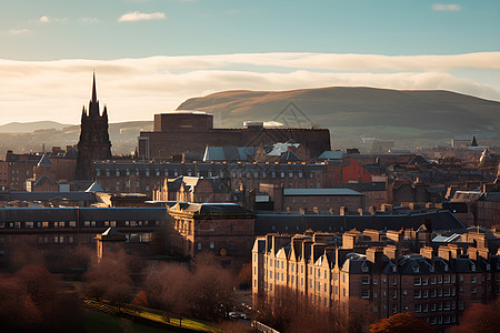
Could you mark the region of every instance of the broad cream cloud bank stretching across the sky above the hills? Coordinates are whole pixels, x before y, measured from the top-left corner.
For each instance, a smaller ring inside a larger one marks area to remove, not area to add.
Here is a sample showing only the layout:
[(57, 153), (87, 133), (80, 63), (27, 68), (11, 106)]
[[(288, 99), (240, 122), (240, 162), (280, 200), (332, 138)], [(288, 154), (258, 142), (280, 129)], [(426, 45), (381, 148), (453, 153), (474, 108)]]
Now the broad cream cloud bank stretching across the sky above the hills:
[[(108, 105), (112, 122), (152, 120), (154, 113), (174, 110), (186, 99), (223, 90), (440, 89), (500, 101), (500, 80), (484, 83), (458, 74), (464, 68), (464, 73), (489, 72), (500, 78), (496, 74), (500, 73), (499, 56), (499, 52), (416, 57), (242, 53), (0, 60), (0, 122), (58, 119), (78, 123), (81, 107), (90, 98), (92, 70), (97, 73), (99, 99)], [(447, 63), (448, 71), (436, 70), (444, 68), (442, 63)]]

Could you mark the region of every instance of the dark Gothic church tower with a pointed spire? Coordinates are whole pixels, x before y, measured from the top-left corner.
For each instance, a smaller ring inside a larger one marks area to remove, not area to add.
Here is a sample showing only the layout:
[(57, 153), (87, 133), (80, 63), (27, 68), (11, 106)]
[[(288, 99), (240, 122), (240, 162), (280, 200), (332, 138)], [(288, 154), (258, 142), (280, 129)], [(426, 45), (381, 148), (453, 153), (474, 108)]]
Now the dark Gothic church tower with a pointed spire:
[(81, 112), (80, 141), (78, 142), (77, 180), (91, 180), (90, 167), (93, 160), (111, 159), (111, 141), (108, 134), (108, 110), (100, 115), (96, 91), (96, 73), (92, 82), (92, 99), (89, 112)]

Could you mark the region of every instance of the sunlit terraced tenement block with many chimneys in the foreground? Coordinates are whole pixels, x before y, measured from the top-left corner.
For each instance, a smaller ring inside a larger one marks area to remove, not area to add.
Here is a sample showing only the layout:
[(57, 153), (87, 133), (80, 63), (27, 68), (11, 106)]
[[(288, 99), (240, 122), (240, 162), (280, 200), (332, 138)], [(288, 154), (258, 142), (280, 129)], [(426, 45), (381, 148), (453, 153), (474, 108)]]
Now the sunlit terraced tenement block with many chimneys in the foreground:
[(359, 235), (346, 233), (342, 246), (338, 238), (324, 233), (257, 239), (252, 250), (254, 305), (259, 294), (272, 299), (286, 289), (304, 295), (316, 309), (340, 315), (351, 306), (378, 317), (412, 312), (444, 329), (458, 323), (473, 303), (488, 303), (500, 295), (496, 252), (470, 248), (457, 255), (453, 246), (423, 246), (420, 254), (412, 254), (404, 253), (398, 242), (352, 242)]

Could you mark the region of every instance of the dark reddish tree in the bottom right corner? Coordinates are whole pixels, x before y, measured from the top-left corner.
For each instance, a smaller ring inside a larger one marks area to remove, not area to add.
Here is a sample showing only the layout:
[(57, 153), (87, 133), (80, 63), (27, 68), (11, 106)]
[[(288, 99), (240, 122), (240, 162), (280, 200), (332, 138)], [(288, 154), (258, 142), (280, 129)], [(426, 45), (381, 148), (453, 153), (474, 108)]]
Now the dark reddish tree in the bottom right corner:
[(488, 305), (477, 303), (469, 307), (464, 313), (460, 325), (451, 330), (452, 333), (493, 333), (500, 327), (500, 316), (498, 309), (500, 299)]

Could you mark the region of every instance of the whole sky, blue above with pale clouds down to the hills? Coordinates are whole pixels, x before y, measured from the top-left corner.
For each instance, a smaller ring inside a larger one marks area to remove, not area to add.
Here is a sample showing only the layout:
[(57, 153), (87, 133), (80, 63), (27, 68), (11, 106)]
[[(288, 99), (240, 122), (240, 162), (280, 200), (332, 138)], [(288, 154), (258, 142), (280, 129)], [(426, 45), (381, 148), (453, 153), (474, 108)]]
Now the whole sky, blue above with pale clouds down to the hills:
[(500, 101), (498, 0), (0, 0), (0, 124), (111, 122), (222, 90), (444, 89)]

